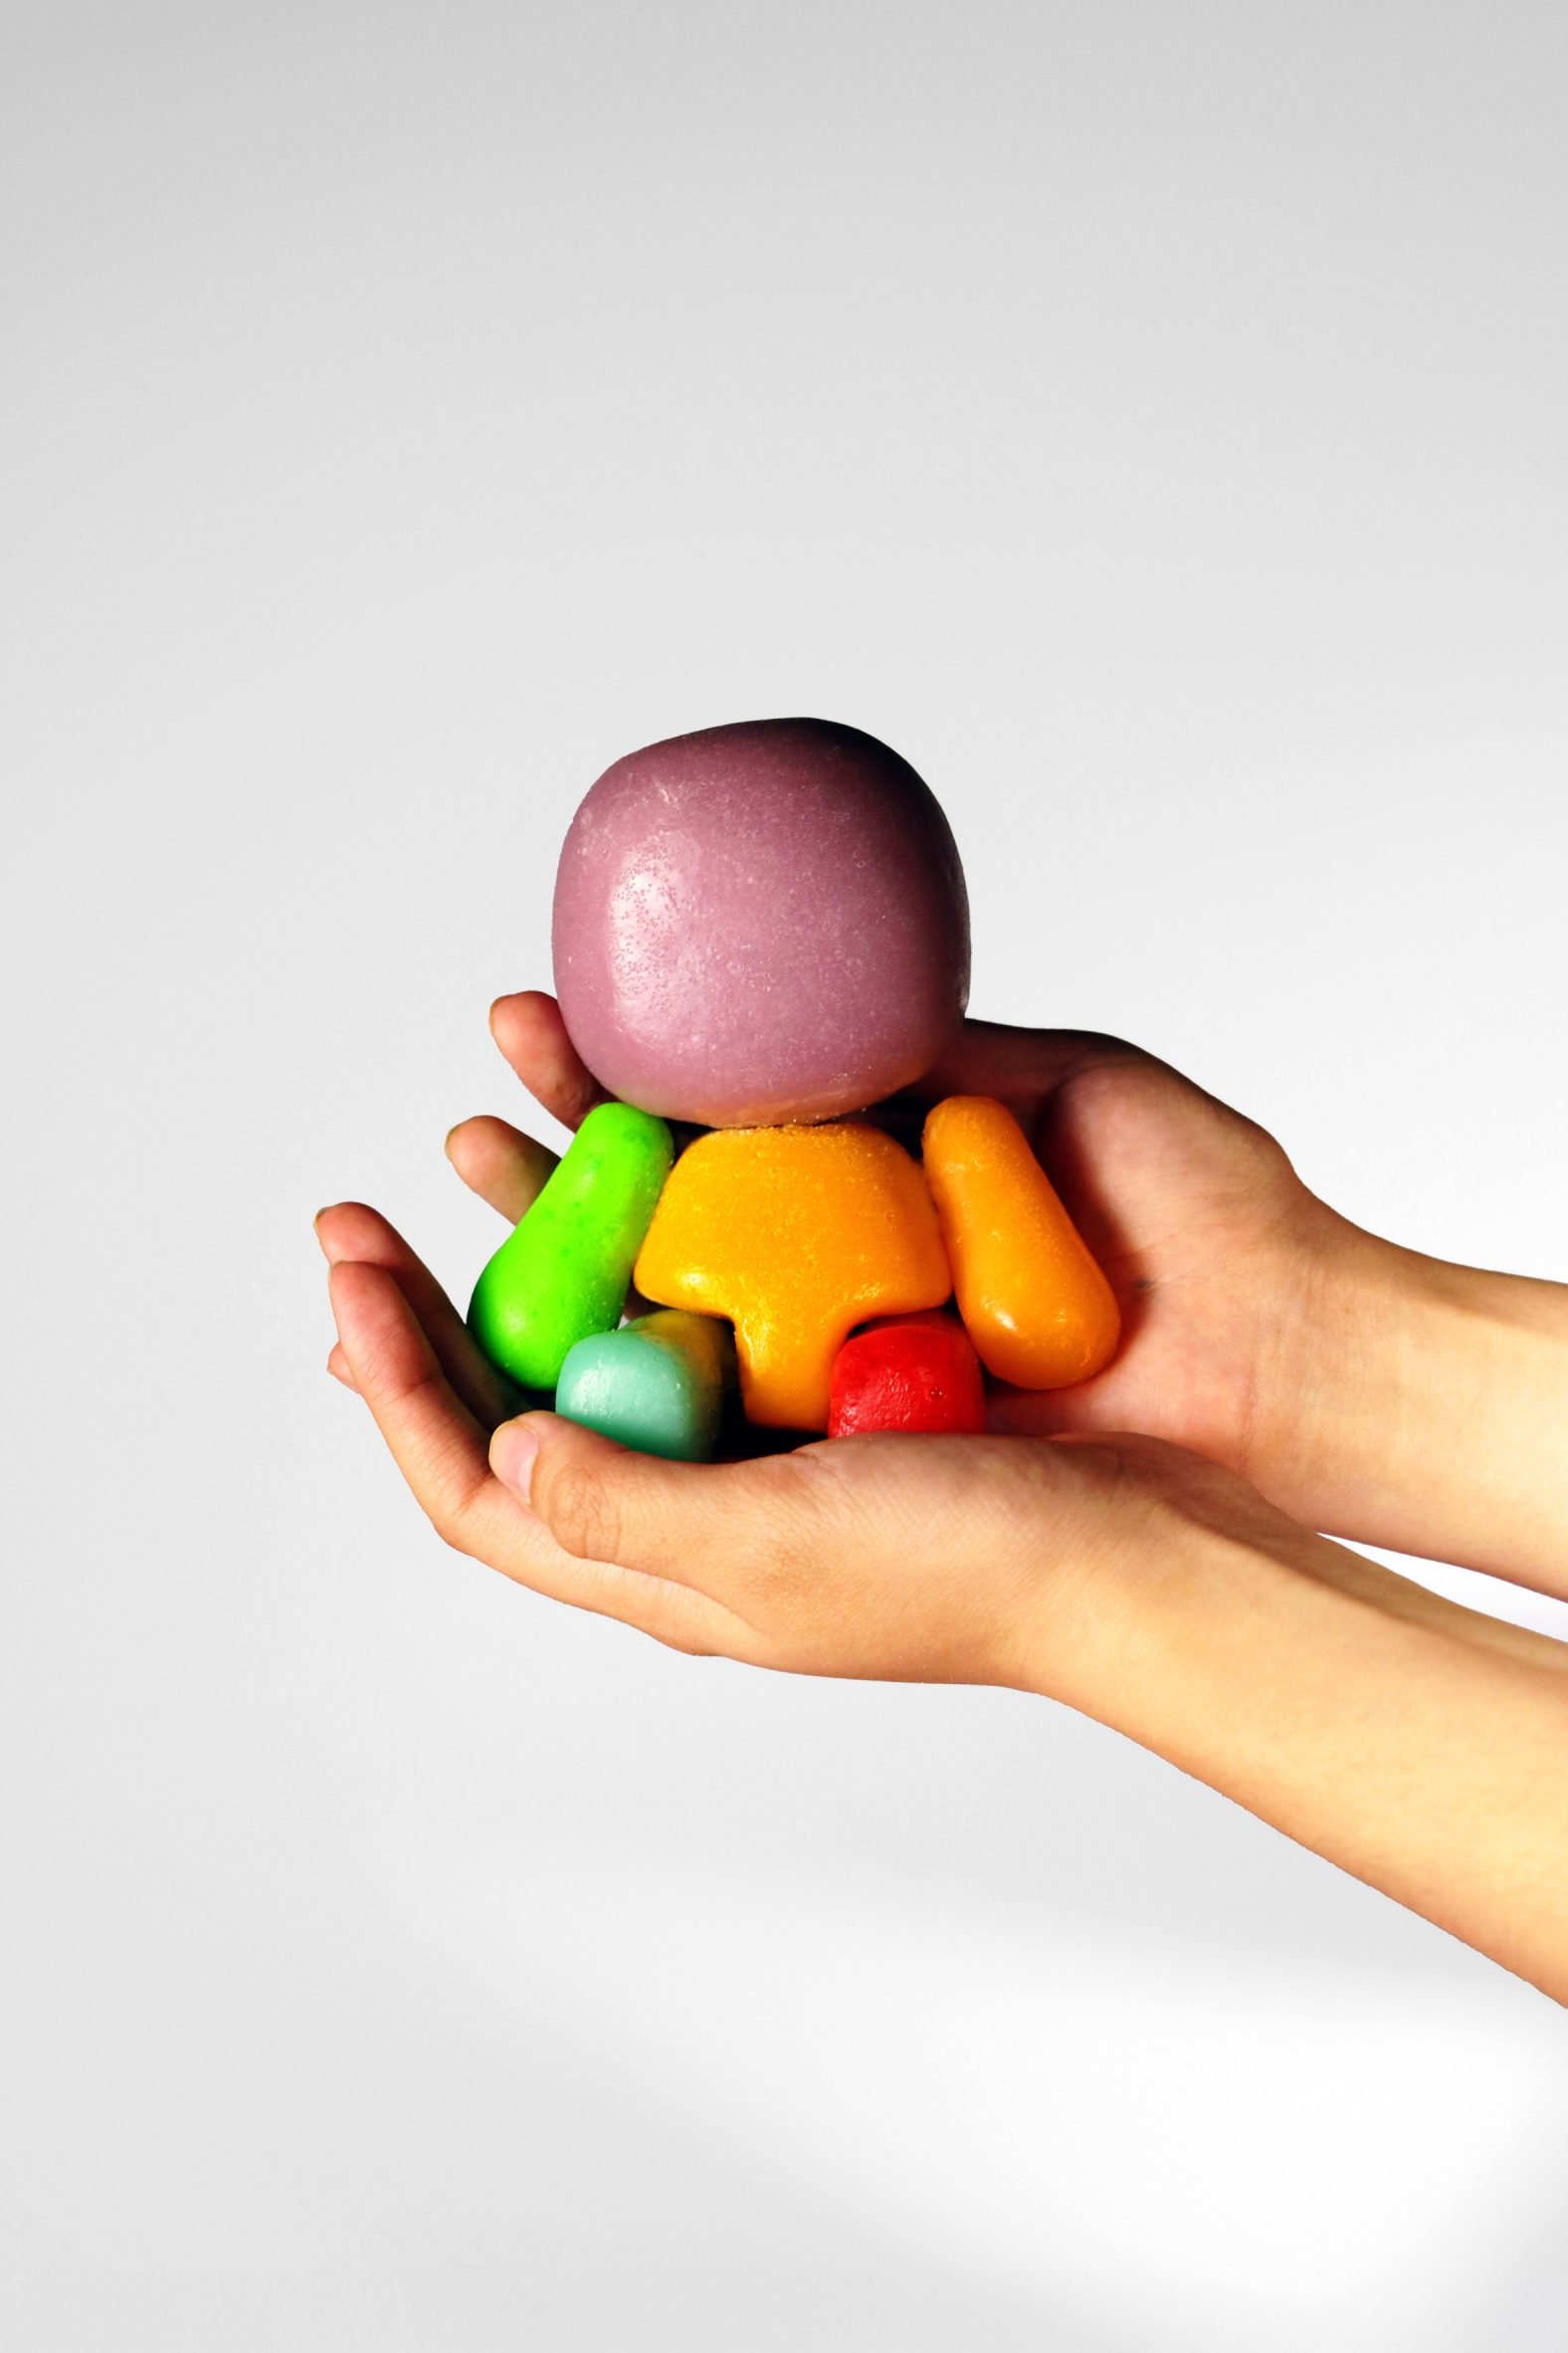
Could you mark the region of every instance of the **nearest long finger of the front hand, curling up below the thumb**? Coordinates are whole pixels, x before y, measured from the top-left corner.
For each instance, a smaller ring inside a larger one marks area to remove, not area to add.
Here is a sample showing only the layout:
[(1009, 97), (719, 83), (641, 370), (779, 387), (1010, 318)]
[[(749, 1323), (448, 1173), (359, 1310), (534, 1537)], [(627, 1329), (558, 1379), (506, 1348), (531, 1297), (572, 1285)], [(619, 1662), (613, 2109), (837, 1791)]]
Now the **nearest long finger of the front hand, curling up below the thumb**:
[(616, 1617), (675, 1649), (726, 1649), (729, 1614), (682, 1586), (567, 1553), (494, 1478), (480, 1424), (386, 1266), (331, 1268), (331, 1311), (353, 1381), (435, 1532), (550, 1600)]

